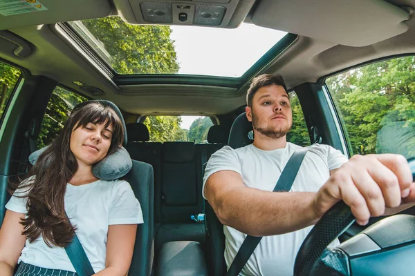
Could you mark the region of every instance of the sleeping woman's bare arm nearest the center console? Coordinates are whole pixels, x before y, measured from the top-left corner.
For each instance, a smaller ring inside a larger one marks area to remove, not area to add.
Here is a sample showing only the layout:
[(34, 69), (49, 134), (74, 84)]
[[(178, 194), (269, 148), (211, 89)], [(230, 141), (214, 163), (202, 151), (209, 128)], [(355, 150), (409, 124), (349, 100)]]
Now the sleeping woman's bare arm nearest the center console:
[(128, 273), (136, 241), (137, 224), (110, 225), (105, 269), (95, 276), (125, 276)]

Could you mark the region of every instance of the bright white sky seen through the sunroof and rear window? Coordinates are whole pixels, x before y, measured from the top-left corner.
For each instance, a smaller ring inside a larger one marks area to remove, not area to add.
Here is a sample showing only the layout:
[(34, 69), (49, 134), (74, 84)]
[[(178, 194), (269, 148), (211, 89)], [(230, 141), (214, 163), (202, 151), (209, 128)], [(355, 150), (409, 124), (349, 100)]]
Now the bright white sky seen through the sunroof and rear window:
[[(236, 29), (171, 26), (179, 74), (241, 77), (286, 32), (243, 23)], [(181, 128), (199, 116), (182, 116)]]

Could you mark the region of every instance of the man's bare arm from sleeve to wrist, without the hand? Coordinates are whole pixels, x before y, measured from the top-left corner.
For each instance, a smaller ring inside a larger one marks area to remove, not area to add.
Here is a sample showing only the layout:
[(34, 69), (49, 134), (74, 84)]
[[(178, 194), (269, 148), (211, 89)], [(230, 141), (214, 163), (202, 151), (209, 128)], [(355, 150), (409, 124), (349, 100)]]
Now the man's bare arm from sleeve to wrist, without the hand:
[(205, 184), (205, 197), (221, 223), (252, 236), (279, 235), (315, 224), (315, 194), (249, 188), (232, 170), (215, 172)]

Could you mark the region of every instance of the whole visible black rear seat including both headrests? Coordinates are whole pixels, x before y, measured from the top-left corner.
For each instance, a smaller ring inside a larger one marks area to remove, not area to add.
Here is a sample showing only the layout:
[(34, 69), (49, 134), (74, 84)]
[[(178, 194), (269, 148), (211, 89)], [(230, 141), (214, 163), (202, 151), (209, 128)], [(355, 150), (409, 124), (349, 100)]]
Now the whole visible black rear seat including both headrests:
[(228, 132), (212, 126), (210, 144), (149, 141), (147, 126), (127, 124), (131, 159), (154, 168), (154, 233), (156, 252), (165, 242), (205, 242), (205, 226), (190, 219), (203, 211), (203, 164), (228, 141)]

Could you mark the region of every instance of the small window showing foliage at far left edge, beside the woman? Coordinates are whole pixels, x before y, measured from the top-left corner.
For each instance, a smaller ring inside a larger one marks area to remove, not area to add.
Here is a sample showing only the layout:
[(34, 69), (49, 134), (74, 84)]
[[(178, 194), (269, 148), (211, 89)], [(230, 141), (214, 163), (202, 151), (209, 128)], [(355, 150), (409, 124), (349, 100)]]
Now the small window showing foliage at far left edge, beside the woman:
[(0, 121), (20, 75), (20, 70), (0, 62)]

